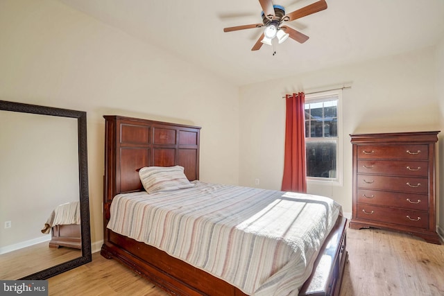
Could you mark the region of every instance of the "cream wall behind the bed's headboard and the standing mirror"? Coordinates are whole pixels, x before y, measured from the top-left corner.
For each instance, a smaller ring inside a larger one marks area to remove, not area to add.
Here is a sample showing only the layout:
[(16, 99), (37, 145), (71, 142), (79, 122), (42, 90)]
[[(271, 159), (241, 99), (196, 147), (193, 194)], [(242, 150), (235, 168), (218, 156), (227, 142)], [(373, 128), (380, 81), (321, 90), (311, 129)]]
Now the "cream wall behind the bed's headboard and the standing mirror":
[(238, 183), (237, 87), (58, 1), (2, 0), (0, 28), (0, 100), (87, 112), (93, 243), (104, 114), (201, 126), (200, 180)]

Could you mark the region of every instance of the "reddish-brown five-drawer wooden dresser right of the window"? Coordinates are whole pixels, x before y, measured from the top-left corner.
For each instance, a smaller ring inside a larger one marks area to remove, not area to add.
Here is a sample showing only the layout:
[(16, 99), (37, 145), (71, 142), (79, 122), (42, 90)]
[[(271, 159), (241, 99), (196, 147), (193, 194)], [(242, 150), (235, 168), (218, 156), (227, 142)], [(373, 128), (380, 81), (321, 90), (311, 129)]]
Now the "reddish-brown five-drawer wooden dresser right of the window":
[(408, 232), (441, 244), (436, 233), (438, 132), (350, 134), (353, 203), (350, 228)]

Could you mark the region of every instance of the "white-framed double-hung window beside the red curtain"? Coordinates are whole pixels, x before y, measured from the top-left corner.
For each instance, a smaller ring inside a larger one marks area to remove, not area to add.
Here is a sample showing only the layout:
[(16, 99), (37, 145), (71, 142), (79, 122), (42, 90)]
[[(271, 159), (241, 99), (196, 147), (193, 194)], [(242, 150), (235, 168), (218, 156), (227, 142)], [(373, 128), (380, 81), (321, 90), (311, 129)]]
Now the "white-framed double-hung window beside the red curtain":
[(342, 184), (342, 90), (305, 96), (307, 182)]

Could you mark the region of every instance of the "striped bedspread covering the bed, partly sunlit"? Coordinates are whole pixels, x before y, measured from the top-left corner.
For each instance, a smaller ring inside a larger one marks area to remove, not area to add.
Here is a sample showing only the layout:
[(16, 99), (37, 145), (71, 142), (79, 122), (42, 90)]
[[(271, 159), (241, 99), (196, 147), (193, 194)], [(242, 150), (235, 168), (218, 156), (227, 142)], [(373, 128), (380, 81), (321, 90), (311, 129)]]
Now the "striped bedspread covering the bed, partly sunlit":
[(108, 228), (248, 295), (298, 295), (341, 206), (316, 195), (194, 183), (115, 196)]

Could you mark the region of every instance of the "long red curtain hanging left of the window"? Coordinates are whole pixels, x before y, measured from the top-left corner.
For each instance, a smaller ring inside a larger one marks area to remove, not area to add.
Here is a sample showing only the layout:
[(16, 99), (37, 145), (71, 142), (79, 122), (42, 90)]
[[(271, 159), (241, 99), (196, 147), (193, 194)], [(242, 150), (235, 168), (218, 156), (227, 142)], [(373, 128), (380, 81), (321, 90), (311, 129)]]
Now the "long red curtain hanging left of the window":
[(305, 94), (287, 94), (282, 191), (307, 193), (305, 178)]

